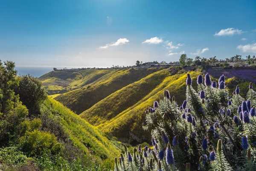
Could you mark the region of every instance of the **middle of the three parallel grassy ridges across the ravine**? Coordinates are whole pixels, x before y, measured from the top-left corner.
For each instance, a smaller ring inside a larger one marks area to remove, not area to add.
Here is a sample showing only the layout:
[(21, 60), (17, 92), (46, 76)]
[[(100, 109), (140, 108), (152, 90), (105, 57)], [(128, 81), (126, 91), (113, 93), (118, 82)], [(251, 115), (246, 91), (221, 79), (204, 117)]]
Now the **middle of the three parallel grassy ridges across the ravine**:
[(117, 90), (105, 99), (85, 110), (80, 116), (93, 125), (99, 125), (112, 119), (128, 107), (133, 106), (157, 87), (163, 79), (170, 75), (169, 71), (154, 72), (139, 81)]

